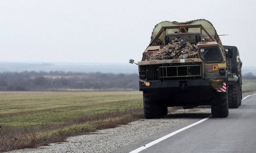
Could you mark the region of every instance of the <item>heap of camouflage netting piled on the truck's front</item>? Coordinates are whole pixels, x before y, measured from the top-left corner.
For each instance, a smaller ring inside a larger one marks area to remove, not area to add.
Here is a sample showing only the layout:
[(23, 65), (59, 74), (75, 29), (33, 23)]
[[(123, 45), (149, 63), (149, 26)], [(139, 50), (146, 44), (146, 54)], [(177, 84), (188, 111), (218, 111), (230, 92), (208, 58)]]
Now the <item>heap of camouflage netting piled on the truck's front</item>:
[(146, 61), (164, 60), (173, 58), (197, 58), (197, 45), (191, 45), (186, 39), (176, 38), (162, 49), (147, 54)]

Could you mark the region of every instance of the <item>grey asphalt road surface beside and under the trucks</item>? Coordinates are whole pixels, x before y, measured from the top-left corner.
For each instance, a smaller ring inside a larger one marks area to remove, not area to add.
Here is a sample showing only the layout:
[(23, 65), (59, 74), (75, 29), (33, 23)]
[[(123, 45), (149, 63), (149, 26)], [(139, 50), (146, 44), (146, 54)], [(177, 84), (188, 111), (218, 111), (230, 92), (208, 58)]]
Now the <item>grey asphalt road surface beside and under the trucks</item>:
[[(256, 152), (256, 95), (242, 101), (237, 109), (229, 109), (227, 118), (209, 118), (193, 127), (177, 133), (148, 147), (140, 153), (255, 153)], [(210, 114), (208, 114), (210, 115)], [(180, 116), (167, 116), (167, 118)], [(182, 116), (188, 117), (188, 116)], [(197, 114), (179, 127), (165, 130), (132, 145), (116, 150), (116, 153), (133, 151), (169, 133), (191, 125), (204, 115)]]

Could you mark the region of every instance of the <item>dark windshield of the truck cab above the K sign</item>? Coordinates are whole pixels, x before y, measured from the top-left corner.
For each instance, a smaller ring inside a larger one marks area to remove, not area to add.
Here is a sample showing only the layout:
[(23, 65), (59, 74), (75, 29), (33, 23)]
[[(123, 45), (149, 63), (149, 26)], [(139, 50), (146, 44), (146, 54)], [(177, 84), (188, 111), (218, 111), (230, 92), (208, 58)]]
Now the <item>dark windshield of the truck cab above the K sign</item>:
[(222, 61), (219, 49), (217, 47), (200, 48), (199, 55), (207, 63)]

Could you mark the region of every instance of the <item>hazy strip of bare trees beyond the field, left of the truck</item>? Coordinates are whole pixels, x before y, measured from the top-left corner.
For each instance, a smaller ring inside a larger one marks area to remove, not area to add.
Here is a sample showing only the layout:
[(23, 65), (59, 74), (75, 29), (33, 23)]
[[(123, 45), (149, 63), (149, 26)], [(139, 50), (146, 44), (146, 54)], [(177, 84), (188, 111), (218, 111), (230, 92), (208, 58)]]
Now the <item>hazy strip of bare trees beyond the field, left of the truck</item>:
[(137, 74), (77, 72), (2, 72), (1, 91), (138, 90)]

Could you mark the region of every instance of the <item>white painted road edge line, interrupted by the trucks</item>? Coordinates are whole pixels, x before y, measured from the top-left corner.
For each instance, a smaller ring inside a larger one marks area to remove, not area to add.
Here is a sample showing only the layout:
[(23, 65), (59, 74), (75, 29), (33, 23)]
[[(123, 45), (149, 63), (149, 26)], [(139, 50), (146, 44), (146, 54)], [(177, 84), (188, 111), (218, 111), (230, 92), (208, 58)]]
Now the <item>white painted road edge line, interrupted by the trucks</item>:
[[(256, 94), (253, 94), (253, 95), (256, 95)], [(248, 96), (244, 97), (242, 100), (244, 100), (244, 99), (246, 99), (246, 98), (248, 98), (248, 97), (250, 97), (250, 96), (253, 96), (253, 95), (248, 95)], [(152, 145), (155, 145), (155, 144), (158, 143), (158, 142), (161, 142), (161, 141), (163, 141), (163, 140), (165, 140), (165, 139), (167, 139), (167, 138), (170, 138), (170, 137), (173, 136), (173, 135), (176, 135), (177, 133), (179, 133), (179, 132), (181, 132), (181, 131), (184, 131), (184, 130), (186, 130), (186, 129), (188, 129), (188, 128), (191, 128), (192, 126), (195, 126), (195, 125), (197, 125), (197, 124), (199, 124), (199, 123), (202, 123), (203, 121), (205, 121), (205, 120), (207, 120), (207, 119), (209, 119), (209, 118), (211, 118), (211, 116), (208, 116), (207, 118), (204, 118), (204, 119), (202, 119), (202, 120), (200, 120), (200, 121), (197, 121), (197, 122), (195, 122), (195, 123), (193, 123), (193, 124), (190, 124), (190, 125), (188, 125), (188, 126), (186, 126), (186, 127), (184, 127), (184, 128), (181, 128), (181, 129), (179, 129), (179, 130), (177, 130), (177, 131), (174, 131), (174, 132), (172, 132), (172, 133), (170, 133), (170, 134), (168, 134), (168, 135), (165, 135), (165, 136), (163, 136), (163, 137), (161, 137), (161, 138), (159, 138), (159, 139), (157, 139), (157, 140), (155, 140), (155, 141), (152, 141), (152, 142), (148, 143), (147, 145), (144, 145), (144, 146), (142, 146), (142, 147), (140, 147), (140, 148), (137, 148), (137, 149), (135, 149), (135, 150), (133, 150), (133, 151), (131, 151), (131, 152), (129, 152), (129, 153), (138, 153), (138, 152), (140, 152), (140, 151), (142, 151), (142, 150), (144, 150), (144, 149), (146, 149), (146, 148), (148, 148), (148, 147), (151, 147)]]

